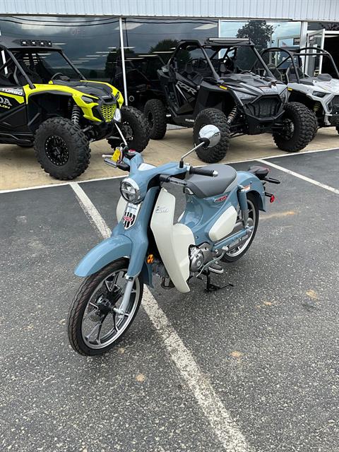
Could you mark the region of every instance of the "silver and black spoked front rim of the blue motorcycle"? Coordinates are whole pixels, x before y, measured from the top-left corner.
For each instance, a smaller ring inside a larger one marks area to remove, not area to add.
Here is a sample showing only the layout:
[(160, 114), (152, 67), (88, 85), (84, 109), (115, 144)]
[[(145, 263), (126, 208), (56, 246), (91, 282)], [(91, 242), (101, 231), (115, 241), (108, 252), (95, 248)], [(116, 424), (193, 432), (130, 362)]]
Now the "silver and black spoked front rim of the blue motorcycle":
[(133, 319), (140, 296), (138, 278), (134, 281), (126, 314), (121, 316), (113, 309), (119, 309), (126, 287), (126, 268), (110, 273), (95, 288), (83, 312), (81, 335), (85, 345), (100, 349), (112, 344), (124, 333)]

